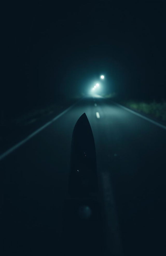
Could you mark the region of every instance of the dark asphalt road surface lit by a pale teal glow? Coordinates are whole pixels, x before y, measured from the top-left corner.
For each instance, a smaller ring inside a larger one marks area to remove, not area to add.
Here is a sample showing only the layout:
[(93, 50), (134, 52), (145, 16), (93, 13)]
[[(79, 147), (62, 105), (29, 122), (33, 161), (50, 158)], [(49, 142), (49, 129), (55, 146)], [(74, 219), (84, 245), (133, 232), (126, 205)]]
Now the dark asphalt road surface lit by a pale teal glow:
[(108, 251), (165, 254), (166, 130), (87, 98), (1, 160), (1, 255), (60, 255), (72, 131), (84, 112), (96, 145)]

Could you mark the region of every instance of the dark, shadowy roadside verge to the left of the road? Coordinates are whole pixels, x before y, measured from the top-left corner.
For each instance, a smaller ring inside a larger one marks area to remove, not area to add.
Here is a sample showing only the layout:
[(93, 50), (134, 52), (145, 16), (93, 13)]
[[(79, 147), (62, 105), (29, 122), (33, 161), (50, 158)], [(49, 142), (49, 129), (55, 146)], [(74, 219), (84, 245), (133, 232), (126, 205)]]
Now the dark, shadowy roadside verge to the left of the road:
[(1, 112), (0, 153), (50, 121), (74, 102), (75, 100), (56, 102), (45, 107), (25, 111), (21, 115), (16, 113), (15, 116), (9, 118), (6, 118)]

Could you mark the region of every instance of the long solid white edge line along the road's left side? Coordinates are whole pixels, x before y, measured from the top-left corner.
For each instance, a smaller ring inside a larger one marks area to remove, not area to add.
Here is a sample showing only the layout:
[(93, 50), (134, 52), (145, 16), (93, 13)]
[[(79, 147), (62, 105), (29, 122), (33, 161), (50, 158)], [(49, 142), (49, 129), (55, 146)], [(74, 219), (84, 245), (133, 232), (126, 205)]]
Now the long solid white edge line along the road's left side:
[(17, 148), (19, 148), (21, 145), (23, 145), (25, 142), (27, 142), (29, 139), (31, 139), (33, 136), (35, 136), (37, 133), (39, 133), (40, 131), (42, 131), (44, 128), (46, 128), (47, 126), (49, 126), (50, 124), (52, 124), (55, 120), (57, 120), (59, 117), (61, 117), (63, 114), (65, 114), (67, 111), (69, 111), (74, 105), (76, 105), (78, 103), (78, 101), (76, 103), (74, 103), (72, 106), (68, 107), (66, 110), (64, 110), (62, 113), (60, 113), (58, 116), (54, 117), (51, 121), (49, 121), (48, 123), (46, 123), (45, 125), (41, 126), (39, 129), (37, 129), (36, 131), (34, 131), (33, 133), (31, 133), (29, 136), (27, 136), (25, 139), (23, 139), (22, 141), (20, 141), (19, 143), (17, 143), (15, 146), (11, 147), (10, 149), (8, 149), (7, 151), (5, 151), (2, 155), (0, 155), (0, 161), (6, 157), (7, 155), (9, 155), (11, 152), (13, 152), (14, 150), (16, 150)]

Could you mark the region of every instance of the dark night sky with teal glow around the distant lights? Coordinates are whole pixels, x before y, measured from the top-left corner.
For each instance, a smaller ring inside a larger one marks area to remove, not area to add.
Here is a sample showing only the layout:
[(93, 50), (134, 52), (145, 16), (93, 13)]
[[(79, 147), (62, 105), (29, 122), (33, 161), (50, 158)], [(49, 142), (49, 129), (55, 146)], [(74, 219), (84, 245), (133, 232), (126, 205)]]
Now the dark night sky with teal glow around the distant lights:
[(164, 99), (165, 20), (164, 1), (10, 4), (6, 113), (80, 97), (102, 73), (104, 93)]

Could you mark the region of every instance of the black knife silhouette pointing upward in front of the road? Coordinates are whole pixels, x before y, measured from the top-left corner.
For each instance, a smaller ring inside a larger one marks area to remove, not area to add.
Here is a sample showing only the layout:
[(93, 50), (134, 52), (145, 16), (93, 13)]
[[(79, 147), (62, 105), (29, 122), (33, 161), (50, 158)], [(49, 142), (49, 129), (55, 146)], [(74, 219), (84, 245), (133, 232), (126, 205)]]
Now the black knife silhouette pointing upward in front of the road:
[(75, 124), (69, 175), (68, 198), (64, 202), (64, 253), (101, 255), (101, 211), (96, 152), (86, 114)]

